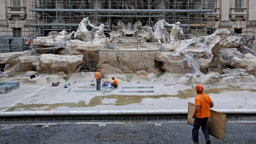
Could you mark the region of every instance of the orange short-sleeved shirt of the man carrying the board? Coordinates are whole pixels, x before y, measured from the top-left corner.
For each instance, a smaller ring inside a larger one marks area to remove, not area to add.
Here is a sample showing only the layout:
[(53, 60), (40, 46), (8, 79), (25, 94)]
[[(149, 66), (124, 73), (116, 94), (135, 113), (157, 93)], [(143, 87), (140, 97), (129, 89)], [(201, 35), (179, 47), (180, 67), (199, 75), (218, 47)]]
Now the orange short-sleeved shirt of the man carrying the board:
[(210, 102), (212, 102), (212, 99), (209, 95), (198, 94), (196, 96), (195, 104), (200, 106), (199, 112), (196, 114), (196, 117), (210, 117)]

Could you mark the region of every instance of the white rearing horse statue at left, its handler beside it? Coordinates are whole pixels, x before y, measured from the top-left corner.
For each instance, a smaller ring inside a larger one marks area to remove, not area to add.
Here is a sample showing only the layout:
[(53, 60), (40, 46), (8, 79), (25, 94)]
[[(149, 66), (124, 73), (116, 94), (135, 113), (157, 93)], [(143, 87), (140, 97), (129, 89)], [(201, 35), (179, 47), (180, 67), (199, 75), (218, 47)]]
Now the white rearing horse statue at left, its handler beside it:
[(86, 27), (86, 23), (88, 22), (89, 18), (86, 17), (82, 19), (82, 21), (79, 24), (79, 27), (76, 31), (71, 32), (68, 37), (71, 37), (74, 34), (75, 37), (80, 37), (84, 42), (91, 42), (93, 39), (92, 32), (89, 31)]

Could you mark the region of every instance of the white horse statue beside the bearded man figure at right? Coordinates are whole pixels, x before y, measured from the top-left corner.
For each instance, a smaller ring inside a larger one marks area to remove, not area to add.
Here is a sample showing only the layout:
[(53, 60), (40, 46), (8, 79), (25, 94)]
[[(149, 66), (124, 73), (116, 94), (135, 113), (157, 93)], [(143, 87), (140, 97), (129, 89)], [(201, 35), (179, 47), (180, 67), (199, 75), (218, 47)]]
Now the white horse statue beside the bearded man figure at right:
[(169, 33), (167, 29), (164, 27), (165, 20), (158, 20), (155, 23), (155, 26), (153, 27), (154, 33), (152, 42), (158, 42), (158, 44), (161, 44), (161, 41), (166, 43), (166, 40), (169, 42)]

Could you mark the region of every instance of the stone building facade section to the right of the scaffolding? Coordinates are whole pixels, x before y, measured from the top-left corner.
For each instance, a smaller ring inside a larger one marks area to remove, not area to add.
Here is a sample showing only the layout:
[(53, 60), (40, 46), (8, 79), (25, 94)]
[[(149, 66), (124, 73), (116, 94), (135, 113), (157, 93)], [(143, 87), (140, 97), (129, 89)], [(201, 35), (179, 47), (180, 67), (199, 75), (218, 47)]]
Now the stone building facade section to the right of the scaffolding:
[(215, 28), (238, 34), (256, 33), (256, 0), (216, 0), (215, 6)]

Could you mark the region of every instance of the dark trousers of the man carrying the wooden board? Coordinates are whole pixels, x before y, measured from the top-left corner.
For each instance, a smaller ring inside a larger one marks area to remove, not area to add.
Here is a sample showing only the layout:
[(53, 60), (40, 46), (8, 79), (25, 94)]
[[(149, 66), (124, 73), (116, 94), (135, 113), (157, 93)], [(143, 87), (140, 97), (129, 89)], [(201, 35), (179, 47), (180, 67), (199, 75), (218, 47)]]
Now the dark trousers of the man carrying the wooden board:
[(209, 139), (209, 131), (208, 128), (206, 127), (206, 123), (207, 123), (208, 117), (205, 118), (195, 118), (194, 119), (194, 128), (192, 130), (192, 138), (194, 142), (198, 142), (198, 134), (199, 134), (199, 128), (201, 127), (203, 133), (204, 133), (204, 138), (205, 140)]

